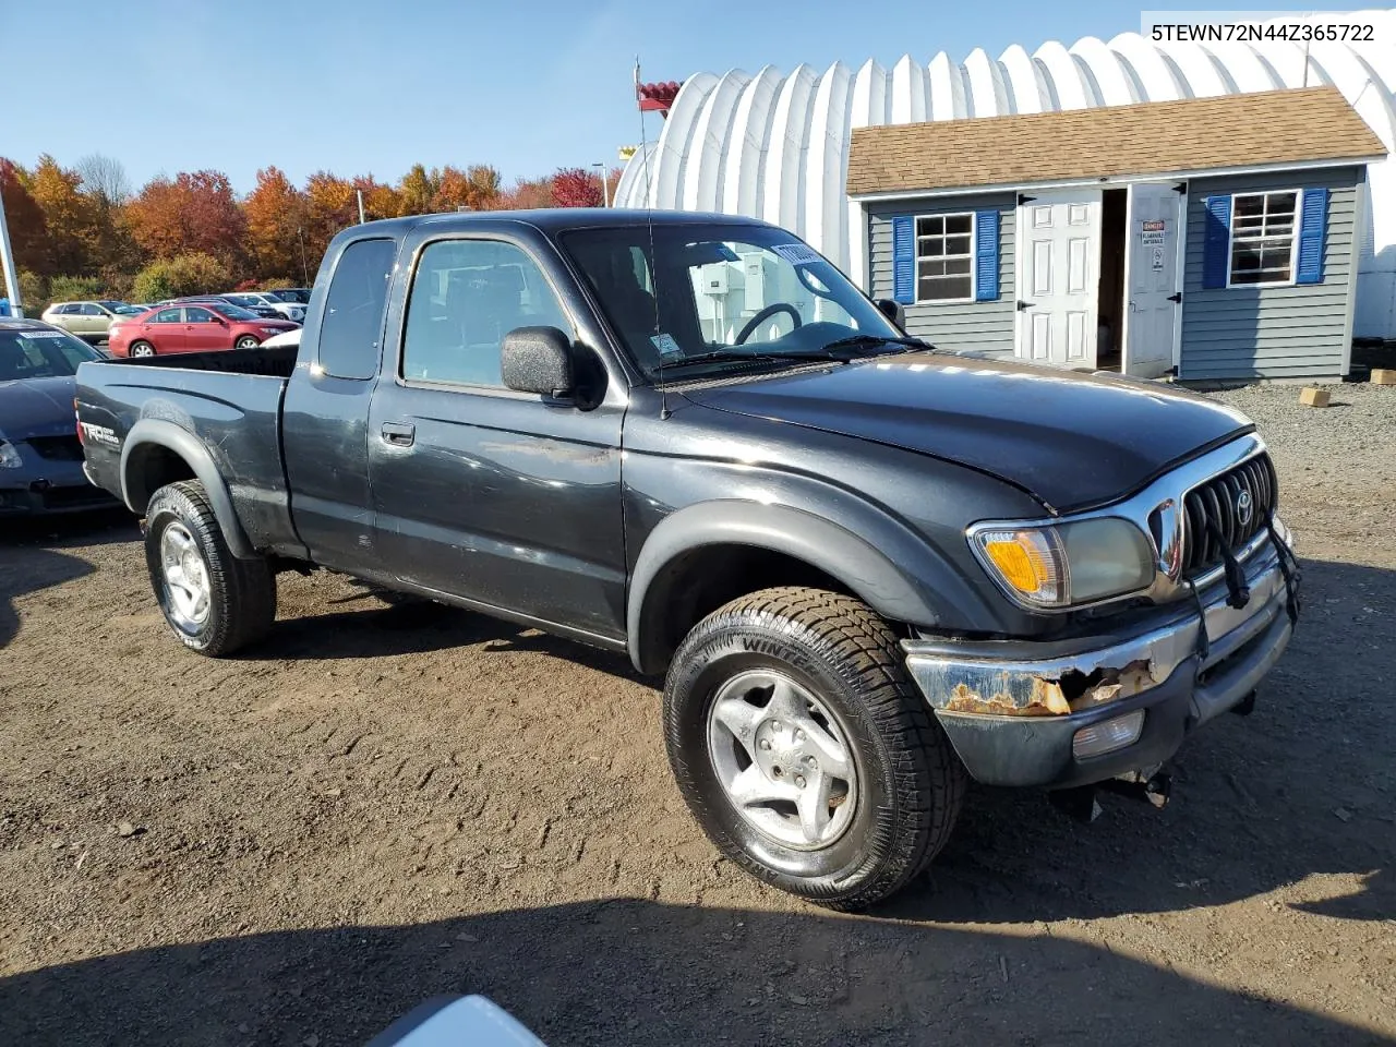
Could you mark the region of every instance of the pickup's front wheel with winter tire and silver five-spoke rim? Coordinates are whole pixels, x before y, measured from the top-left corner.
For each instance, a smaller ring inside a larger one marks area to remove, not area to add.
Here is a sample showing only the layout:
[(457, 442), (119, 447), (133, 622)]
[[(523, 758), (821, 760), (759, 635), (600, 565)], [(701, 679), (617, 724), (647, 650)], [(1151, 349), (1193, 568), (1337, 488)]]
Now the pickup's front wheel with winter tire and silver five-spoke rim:
[(664, 743), (723, 854), (832, 909), (866, 909), (924, 870), (965, 793), (896, 635), (819, 589), (766, 589), (704, 618), (664, 683)]

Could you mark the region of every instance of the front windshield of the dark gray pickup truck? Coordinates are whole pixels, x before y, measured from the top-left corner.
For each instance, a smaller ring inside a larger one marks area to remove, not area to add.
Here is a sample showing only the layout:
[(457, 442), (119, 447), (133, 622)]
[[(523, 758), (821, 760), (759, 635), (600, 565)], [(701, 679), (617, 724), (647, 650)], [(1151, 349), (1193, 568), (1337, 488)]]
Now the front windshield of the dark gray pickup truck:
[[(563, 247), (651, 378), (824, 359), (826, 346), (902, 332), (826, 258), (780, 229), (627, 225), (564, 233)], [(678, 373), (677, 370), (674, 371)]]

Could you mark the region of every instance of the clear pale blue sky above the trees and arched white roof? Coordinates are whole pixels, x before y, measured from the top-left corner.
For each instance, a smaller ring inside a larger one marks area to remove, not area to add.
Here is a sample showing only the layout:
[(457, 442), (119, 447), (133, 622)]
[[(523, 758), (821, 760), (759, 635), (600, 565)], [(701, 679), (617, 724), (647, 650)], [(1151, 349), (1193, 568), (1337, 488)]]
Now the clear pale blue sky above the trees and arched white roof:
[[(1353, 7), (1304, 7), (1329, 6)], [(645, 80), (683, 80), (1138, 28), (1118, 0), (0, 0), (0, 42), (25, 45), (3, 47), (0, 155), (102, 152), (137, 187), (214, 168), (247, 191), (269, 163), (296, 181), (395, 180), (413, 162), (493, 163), (512, 180), (614, 162), (638, 141), (637, 54)]]

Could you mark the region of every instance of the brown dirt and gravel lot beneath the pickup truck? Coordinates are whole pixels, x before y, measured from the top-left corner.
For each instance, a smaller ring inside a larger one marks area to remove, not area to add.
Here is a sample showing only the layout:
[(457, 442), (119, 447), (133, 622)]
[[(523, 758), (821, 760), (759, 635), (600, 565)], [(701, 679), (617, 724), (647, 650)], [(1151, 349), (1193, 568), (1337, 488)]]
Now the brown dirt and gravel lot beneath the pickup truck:
[(716, 859), (627, 663), (283, 578), (184, 653), (134, 526), (0, 539), (0, 1043), (362, 1043), (482, 991), (550, 1044), (1396, 1040), (1396, 389), (1227, 394), (1305, 617), (1161, 814), (977, 790), (835, 917)]

